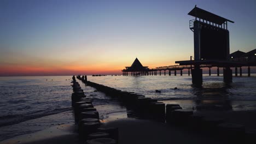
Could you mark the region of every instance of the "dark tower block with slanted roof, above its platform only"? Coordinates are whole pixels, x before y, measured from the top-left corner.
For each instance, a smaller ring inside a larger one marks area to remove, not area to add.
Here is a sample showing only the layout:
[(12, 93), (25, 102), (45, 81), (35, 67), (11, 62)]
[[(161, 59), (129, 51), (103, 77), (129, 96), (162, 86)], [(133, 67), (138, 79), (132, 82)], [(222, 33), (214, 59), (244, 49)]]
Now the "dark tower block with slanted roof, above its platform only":
[(197, 7), (188, 15), (195, 17), (189, 21), (189, 27), (194, 32), (194, 59), (228, 61), (228, 22), (234, 22)]

